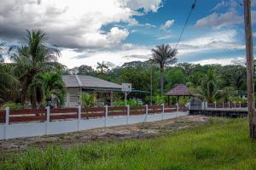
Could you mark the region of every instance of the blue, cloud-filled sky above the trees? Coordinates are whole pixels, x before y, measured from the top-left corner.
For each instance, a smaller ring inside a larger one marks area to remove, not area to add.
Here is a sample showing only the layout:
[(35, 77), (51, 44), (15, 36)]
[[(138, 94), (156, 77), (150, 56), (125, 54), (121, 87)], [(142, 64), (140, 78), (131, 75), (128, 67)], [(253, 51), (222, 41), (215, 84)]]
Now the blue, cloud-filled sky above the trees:
[[(113, 68), (147, 60), (156, 45), (177, 39), (195, 0), (0, 0), (0, 44), (19, 44), (26, 30), (42, 29), (61, 50), (61, 64)], [(245, 60), (243, 1), (197, 0), (177, 61), (229, 65)], [(252, 1), (253, 42), (256, 0)], [(253, 54), (255, 56), (255, 48)], [(9, 59), (6, 59), (8, 62)]]

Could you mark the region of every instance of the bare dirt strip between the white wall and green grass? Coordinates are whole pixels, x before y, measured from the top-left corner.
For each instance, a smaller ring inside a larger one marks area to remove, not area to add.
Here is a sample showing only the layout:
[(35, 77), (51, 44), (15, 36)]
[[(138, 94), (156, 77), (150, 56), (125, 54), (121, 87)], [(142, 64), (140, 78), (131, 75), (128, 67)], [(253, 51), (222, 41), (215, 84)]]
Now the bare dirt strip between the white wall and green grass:
[(208, 120), (205, 116), (181, 116), (175, 119), (137, 123), (129, 126), (108, 127), (106, 129), (96, 128), (76, 133), (0, 140), (0, 157), (16, 151), (26, 151), (31, 146), (44, 149), (49, 144), (70, 147), (92, 141), (154, 138), (177, 129), (194, 127), (207, 122)]

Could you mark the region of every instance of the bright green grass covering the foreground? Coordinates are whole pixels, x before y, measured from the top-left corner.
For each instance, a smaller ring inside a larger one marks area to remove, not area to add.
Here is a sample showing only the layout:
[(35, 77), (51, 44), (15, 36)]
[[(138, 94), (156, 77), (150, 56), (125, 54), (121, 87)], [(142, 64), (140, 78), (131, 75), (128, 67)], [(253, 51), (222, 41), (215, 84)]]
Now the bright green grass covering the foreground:
[(256, 169), (256, 143), (247, 119), (211, 119), (165, 137), (95, 142), (8, 156), (0, 169)]

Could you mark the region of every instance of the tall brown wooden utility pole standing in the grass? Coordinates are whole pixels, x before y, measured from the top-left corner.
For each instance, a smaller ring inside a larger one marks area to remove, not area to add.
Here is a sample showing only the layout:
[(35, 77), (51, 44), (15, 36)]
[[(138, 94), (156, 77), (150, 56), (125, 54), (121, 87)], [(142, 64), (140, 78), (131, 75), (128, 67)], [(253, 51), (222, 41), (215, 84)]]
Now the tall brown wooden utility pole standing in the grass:
[(256, 139), (256, 114), (253, 87), (253, 33), (251, 23), (251, 0), (244, 0), (244, 24), (247, 55), (247, 100), (250, 138)]

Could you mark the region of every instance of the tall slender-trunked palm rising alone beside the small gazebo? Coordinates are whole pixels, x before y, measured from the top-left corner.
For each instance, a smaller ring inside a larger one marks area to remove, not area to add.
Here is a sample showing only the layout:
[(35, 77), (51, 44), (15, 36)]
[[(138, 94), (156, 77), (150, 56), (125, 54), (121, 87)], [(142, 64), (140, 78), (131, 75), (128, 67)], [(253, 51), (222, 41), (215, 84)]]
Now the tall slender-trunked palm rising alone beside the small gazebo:
[(169, 44), (162, 44), (152, 49), (153, 58), (151, 60), (160, 65), (160, 87), (162, 96), (164, 95), (165, 66), (177, 62), (177, 58), (175, 58), (176, 54), (177, 49), (173, 49)]

